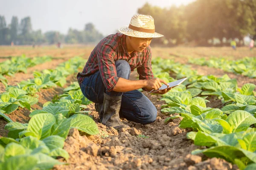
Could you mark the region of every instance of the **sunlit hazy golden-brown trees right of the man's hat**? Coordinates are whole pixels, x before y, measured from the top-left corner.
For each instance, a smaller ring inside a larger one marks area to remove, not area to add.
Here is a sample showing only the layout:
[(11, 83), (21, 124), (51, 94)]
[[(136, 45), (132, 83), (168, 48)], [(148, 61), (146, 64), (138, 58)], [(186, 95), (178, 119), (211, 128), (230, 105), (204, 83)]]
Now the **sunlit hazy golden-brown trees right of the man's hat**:
[(196, 0), (170, 8), (145, 3), (138, 13), (151, 15), (156, 31), (173, 44), (206, 45), (213, 39), (243, 40), (247, 35), (256, 39), (256, 0)]

